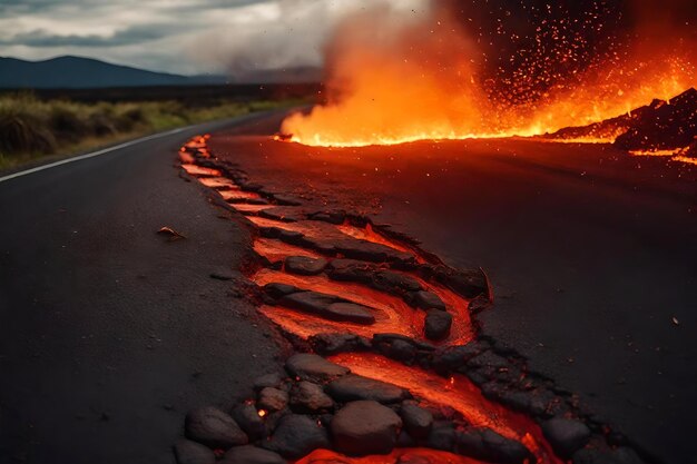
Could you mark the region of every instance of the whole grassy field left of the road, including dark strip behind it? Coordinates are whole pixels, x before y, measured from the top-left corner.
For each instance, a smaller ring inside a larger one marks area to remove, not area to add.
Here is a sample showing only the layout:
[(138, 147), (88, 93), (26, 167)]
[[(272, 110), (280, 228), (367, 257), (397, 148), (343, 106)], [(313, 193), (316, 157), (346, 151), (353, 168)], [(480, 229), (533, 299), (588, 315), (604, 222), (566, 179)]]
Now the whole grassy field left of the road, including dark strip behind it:
[(229, 86), (0, 95), (0, 170), (180, 126), (307, 101), (312, 89)]

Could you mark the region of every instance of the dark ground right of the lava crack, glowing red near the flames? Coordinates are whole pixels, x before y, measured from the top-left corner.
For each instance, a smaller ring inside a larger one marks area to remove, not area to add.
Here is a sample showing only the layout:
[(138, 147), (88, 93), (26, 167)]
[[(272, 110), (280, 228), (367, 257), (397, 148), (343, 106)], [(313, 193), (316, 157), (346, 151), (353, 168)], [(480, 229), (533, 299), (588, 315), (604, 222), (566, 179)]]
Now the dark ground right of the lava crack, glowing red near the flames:
[(210, 147), (267, 190), (371, 215), (448, 264), (481, 265), (495, 296), (485, 334), (657, 461), (695, 462), (695, 167), (529, 140), (314, 149), (271, 140), (277, 125)]

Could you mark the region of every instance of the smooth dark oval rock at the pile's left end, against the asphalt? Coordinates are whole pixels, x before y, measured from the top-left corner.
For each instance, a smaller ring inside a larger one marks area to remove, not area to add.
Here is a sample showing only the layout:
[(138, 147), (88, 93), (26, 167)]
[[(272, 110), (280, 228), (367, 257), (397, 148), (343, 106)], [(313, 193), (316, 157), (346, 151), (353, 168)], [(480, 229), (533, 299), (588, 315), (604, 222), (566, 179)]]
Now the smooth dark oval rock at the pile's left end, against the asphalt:
[(215, 407), (202, 407), (186, 415), (186, 436), (212, 448), (227, 450), (246, 445), (247, 435), (227, 414)]

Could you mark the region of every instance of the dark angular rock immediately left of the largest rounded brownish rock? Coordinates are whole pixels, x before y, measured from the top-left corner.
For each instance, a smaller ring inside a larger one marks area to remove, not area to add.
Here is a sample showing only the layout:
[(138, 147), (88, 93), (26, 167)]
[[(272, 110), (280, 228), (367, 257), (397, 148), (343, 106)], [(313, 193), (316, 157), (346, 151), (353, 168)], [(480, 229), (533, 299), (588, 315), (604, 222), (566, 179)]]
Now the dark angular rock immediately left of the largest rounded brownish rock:
[(331, 444), (326, 430), (312, 417), (289, 414), (278, 421), (276, 430), (263, 446), (286, 458), (297, 460), (317, 448), (328, 448)]

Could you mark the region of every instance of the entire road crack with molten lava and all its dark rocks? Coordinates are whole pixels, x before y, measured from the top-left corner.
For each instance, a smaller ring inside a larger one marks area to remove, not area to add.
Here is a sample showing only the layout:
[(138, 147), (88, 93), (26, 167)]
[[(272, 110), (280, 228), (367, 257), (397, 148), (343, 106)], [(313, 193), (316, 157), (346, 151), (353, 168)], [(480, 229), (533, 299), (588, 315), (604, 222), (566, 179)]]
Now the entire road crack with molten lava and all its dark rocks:
[(369, 220), (288, 206), (297, 201), (217, 164), (205, 137), (179, 158), (258, 230), (259, 313), (327, 356), (292, 356), (229, 415), (190, 413), (189, 440), (233, 462), (303, 464), (561, 463), (588, 443), (612, 453), (601, 424), (592, 433), (578, 419), (573, 395), (478, 337), (472, 315), (491, 303), (483, 272), (449, 268)]

